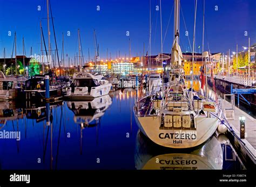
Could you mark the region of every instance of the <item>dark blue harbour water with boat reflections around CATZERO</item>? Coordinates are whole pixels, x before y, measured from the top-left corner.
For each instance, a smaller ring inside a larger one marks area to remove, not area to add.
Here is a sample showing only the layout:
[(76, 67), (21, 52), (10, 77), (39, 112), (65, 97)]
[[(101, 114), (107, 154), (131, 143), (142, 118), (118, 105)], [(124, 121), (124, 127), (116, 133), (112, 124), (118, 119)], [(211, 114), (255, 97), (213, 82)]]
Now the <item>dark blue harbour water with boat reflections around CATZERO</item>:
[(49, 123), (42, 102), (0, 103), (0, 131), (21, 132), (19, 141), (0, 139), (0, 169), (245, 169), (225, 135), (192, 150), (155, 145), (135, 123), (135, 98), (125, 89), (93, 102), (51, 103)]

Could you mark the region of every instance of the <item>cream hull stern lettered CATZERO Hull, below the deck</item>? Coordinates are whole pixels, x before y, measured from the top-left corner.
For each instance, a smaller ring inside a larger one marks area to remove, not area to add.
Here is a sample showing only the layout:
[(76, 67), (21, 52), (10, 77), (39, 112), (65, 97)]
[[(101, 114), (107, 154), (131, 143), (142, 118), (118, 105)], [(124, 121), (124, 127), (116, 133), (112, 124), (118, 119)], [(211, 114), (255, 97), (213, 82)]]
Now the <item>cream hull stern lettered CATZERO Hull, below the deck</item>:
[(137, 117), (136, 123), (140, 130), (153, 142), (170, 148), (191, 148), (207, 141), (217, 130), (217, 118), (195, 118), (196, 130), (186, 128), (160, 129), (159, 116)]

